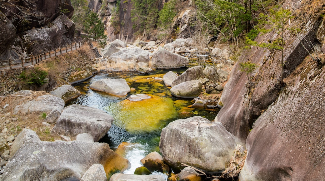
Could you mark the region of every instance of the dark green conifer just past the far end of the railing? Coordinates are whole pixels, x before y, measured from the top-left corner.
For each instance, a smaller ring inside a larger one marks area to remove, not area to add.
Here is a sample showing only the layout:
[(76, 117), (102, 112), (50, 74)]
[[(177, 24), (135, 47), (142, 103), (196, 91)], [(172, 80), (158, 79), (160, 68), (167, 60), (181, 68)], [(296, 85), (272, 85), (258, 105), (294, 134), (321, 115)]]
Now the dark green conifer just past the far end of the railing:
[(85, 19), (85, 31), (91, 35), (90, 38), (95, 40), (105, 39), (107, 35), (104, 34), (104, 23), (98, 18), (97, 14), (90, 12)]

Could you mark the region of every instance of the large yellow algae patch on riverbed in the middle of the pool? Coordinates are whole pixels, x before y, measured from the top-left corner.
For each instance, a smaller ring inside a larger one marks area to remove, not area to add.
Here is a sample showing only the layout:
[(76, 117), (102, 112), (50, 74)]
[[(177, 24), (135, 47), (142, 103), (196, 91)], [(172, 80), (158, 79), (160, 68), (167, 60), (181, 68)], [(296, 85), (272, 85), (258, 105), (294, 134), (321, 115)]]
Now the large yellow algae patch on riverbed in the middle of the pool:
[(132, 102), (121, 101), (120, 110), (116, 112), (114, 124), (131, 133), (150, 132), (162, 129), (166, 120), (177, 115), (171, 98), (148, 94), (150, 99)]

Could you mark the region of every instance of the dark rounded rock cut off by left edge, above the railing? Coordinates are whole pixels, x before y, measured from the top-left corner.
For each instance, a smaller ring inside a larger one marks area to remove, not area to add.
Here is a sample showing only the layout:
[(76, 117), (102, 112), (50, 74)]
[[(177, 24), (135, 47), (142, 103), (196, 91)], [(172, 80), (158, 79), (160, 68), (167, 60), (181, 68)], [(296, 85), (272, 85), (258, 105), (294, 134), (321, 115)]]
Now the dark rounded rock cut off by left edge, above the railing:
[(10, 49), (16, 37), (16, 27), (0, 11), (0, 60), (9, 60), (11, 58)]

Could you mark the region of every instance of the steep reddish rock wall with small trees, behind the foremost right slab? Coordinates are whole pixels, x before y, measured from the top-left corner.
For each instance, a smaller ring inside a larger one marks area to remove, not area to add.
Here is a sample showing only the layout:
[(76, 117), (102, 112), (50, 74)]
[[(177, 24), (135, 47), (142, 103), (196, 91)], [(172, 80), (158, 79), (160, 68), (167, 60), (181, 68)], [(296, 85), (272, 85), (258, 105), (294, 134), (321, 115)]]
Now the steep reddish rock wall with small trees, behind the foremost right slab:
[[(317, 15), (319, 9), (313, 9), (311, 12), (312, 10), (308, 7), (315, 2), (319, 1), (310, 0), (303, 4), (301, 1), (286, 1), (283, 5), (284, 8), (292, 8), (295, 18), (291, 19), (291, 26), (299, 25), (302, 29), (298, 35), (289, 30), (285, 32), (284, 61), (286, 70), (283, 74), (284, 78), (289, 76), (308, 55), (302, 44), (310, 51), (309, 44), (318, 43), (316, 32), (322, 19), (319, 13)], [(267, 42), (276, 37), (274, 33), (267, 33), (258, 36), (255, 40)], [(255, 79), (251, 83), (248, 82), (247, 75), (239, 70), (239, 63), (245, 61), (259, 65), (259, 68), (253, 73)], [(281, 53), (279, 51), (252, 47), (243, 52), (234, 66), (220, 98), (219, 105), (223, 105), (223, 107), (215, 120), (222, 122), (226, 129), (235, 136), (237, 142), (242, 144), (246, 142), (253, 122), (261, 114), (261, 111), (267, 109), (277, 99), (281, 89), (279, 85), (280, 65)]]

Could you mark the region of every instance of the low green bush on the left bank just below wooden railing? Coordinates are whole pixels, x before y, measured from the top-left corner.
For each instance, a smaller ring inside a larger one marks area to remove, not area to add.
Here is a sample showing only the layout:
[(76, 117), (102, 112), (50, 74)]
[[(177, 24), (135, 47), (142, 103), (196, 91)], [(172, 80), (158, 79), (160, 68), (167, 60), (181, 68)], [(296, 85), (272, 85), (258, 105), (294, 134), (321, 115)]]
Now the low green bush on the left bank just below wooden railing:
[(40, 67), (35, 67), (27, 71), (22, 71), (19, 75), (19, 78), (23, 81), (24, 84), (36, 84), (38, 86), (42, 86), (47, 82), (47, 75), (47, 71), (41, 70)]

